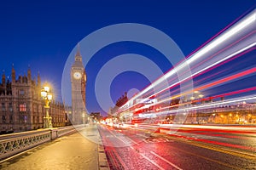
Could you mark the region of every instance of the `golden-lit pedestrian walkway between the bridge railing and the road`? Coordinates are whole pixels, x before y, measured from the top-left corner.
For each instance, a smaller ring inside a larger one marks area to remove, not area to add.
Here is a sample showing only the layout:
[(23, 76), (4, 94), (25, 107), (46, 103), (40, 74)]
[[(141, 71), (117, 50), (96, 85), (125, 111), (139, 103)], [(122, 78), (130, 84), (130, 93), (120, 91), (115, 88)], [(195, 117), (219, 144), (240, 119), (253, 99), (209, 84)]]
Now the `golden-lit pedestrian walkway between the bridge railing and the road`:
[[(84, 127), (80, 133), (98, 135), (96, 125)], [(80, 133), (55, 139), (28, 150), (20, 156), (15, 156), (0, 163), (0, 169), (99, 169), (98, 144), (84, 138)]]

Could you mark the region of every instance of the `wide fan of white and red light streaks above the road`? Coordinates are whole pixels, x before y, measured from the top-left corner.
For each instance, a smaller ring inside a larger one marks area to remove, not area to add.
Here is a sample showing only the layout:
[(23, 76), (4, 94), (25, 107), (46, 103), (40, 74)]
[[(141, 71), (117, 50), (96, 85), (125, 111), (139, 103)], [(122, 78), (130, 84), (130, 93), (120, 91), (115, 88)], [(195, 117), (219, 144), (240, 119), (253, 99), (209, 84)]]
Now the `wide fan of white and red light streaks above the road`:
[[(211, 113), (215, 117), (222, 116), (214, 112), (214, 108), (219, 105), (228, 105), (228, 110), (231, 111), (234, 108), (232, 105), (238, 102), (247, 103), (256, 99), (253, 93), (256, 84), (253, 80), (246, 88), (244, 85), (236, 87), (236, 91), (232, 91), (234, 88), (231, 85), (231, 82), (250, 81), (255, 77), (255, 62), (251, 56), (256, 46), (256, 10), (231, 25), (134, 95), (113, 112), (113, 116), (119, 117), (122, 122), (148, 118), (160, 120), (164, 115), (172, 115), (173, 120), (173, 116), (178, 115), (189, 114), (192, 117), (193, 112), (201, 115)], [(252, 64), (241, 68), (236, 63), (241, 59), (248, 62), (252, 60)], [(232, 66), (237, 67), (236, 72), (230, 72)], [(219, 94), (218, 89), (223, 94)], [(232, 116), (229, 113), (227, 117), (231, 117), (230, 115)], [(246, 122), (249, 118), (240, 118), (239, 122), (241, 120)]]

